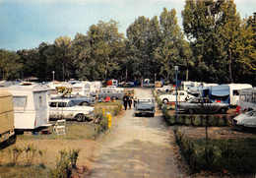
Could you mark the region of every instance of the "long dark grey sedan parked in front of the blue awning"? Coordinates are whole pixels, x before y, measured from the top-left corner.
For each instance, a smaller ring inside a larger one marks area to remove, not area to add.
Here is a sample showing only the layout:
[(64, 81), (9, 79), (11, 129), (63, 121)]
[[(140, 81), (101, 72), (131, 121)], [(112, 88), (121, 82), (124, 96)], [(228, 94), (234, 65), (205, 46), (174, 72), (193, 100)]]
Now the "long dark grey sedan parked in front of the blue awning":
[(213, 102), (208, 97), (193, 97), (186, 102), (178, 103), (178, 110), (189, 114), (194, 113), (226, 113), (229, 104), (223, 102)]

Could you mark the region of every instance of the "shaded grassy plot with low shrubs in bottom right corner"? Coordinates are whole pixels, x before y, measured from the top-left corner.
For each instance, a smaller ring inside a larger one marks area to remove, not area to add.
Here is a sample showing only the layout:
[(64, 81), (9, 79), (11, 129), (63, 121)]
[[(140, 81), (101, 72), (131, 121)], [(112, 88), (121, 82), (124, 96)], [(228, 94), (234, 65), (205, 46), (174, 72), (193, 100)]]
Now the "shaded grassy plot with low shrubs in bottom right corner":
[(182, 155), (194, 172), (202, 170), (230, 172), (233, 174), (255, 173), (255, 139), (192, 140), (173, 130), (175, 141)]

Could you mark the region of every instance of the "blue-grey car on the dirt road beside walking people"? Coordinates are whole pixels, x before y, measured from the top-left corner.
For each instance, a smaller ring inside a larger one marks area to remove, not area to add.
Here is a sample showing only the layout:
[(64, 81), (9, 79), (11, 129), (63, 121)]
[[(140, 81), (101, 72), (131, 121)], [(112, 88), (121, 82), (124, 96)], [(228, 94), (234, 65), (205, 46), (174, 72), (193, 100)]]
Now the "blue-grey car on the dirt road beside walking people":
[(137, 99), (135, 108), (135, 116), (141, 116), (142, 114), (149, 114), (151, 117), (155, 115), (155, 102), (154, 99)]

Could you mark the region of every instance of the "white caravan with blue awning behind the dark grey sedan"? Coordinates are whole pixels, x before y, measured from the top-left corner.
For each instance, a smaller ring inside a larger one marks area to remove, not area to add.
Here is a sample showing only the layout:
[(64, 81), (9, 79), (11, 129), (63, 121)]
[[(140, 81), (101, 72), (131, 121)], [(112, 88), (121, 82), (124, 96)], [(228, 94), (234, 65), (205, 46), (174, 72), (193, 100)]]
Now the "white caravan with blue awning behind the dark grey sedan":
[(209, 96), (211, 100), (215, 102), (228, 103), (231, 106), (236, 106), (239, 103), (240, 89), (252, 88), (249, 84), (228, 84), (213, 86), (207, 90), (204, 90), (203, 96)]

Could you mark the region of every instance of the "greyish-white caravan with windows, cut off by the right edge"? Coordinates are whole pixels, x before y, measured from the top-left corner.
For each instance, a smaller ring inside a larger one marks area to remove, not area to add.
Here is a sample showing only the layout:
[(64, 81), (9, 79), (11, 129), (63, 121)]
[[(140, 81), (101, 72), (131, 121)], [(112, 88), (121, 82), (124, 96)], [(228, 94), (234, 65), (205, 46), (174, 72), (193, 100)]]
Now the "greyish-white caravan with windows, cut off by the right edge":
[(239, 106), (241, 107), (241, 110), (256, 110), (256, 88), (240, 90)]

